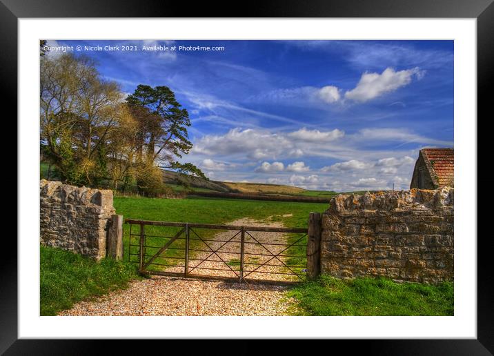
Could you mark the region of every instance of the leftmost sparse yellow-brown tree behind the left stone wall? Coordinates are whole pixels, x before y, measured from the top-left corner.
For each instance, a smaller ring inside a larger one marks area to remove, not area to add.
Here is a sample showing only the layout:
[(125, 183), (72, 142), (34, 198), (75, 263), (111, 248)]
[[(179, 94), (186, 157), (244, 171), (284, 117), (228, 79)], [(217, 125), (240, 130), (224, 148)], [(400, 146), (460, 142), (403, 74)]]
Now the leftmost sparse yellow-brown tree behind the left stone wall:
[(106, 141), (120, 119), (121, 92), (87, 57), (41, 57), (41, 145), (70, 184), (97, 185), (106, 176)]

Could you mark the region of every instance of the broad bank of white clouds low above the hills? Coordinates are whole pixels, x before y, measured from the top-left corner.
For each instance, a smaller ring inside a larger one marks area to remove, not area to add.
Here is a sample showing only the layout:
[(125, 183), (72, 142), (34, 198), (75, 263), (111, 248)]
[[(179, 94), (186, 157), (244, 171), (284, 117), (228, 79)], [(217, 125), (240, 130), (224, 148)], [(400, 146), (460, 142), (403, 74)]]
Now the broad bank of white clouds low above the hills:
[[(195, 141), (192, 161), (196, 157), (199, 162), (214, 157), (213, 162), (220, 164), (215, 170), (216, 180), (248, 179), (339, 192), (391, 189), (393, 183), (395, 189), (406, 189), (419, 147), (437, 142), (402, 128), (368, 128), (345, 135), (344, 139), (324, 141), (335, 137), (328, 132), (335, 130), (235, 128)], [(306, 141), (309, 137), (315, 140)], [(388, 142), (397, 142), (398, 146), (383, 150), (380, 146)], [(399, 146), (407, 142), (419, 145), (400, 150)], [(295, 155), (302, 156), (293, 159)], [(320, 168), (326, 159), (330, 161)], [(236, 168), (220, 170), (224, 168), (221, 164), (228, 162), (235, 163)]]

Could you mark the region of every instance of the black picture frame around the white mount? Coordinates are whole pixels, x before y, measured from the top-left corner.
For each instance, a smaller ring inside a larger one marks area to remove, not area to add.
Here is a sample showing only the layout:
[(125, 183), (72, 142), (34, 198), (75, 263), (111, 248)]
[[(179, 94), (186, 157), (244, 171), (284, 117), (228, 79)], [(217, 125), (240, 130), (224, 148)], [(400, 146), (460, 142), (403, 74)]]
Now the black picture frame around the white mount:
[[(489, 86), (494, 79), (494, 4), (493, 0), (276, 0), (250, 1), (244, 7), (228, 4), (169, 0), (0, 0), (0, 79), (2, 101), (17, 101), (17, 20), (44, 17), (395, 17), (395, 18), (475, 18), (477, 19), (477, 123), (494, 117)], [(12, 105), (10, 105), (12, 107)], [(13, 115), (17, 108), (13, 106)], [(482, 120), (480, 119), (482, 117)], [(489, 130), (477, 127), (477, 186), (491, 187), (493, 176), (481, 176), (492, 148)], [(20, 188), (19, 186), (17, 187)], [(476, 191), (472, 194), (477, 195)], [(488, 192), (486, 192), (488, 194)], [(488, 197), (477, 199), (478, 225), (488, 221)], [(351, 349), (363, 347), (373, 355), (492, 355), (494, 353), (494, 293), (491, 234), (477, 231), (477, 339), (404, 339), (404, 340), (335, 340)], [(472, 237), (473, 241), (475, 236)], [(0, 353), (6, 355), (88, 355), (98, 353), (103, 341), (18, 339), (17, 337), (17, 241), (10, 239), (1, 260)], [(7, 252), (8, 251), (8, 252)], [(108, 341), (110, 342), (110, 341)], [(128, 340), (119, 346), (130, 350)], [(106, 343), (106, 342), (104, 342)], [(208, 349), (204, 340), (199, 349)], [(239, 350), (246, 352), (246, 341)], [(133, 345), (133, 344), (132, 344)], [(290, 346), (290, 342), (285, 343)], [(189, 346), (188, 353), (194, 348)], [(313, 346), (317, 347), (317, 346)], [(333, 347), (333, 346), (332, 346)], [(269, 348), (265, 349), (269, 351)], [(252, 351), (252, 350), (251, 350)], [(329, 352), (329, 350), (328, 350)]]

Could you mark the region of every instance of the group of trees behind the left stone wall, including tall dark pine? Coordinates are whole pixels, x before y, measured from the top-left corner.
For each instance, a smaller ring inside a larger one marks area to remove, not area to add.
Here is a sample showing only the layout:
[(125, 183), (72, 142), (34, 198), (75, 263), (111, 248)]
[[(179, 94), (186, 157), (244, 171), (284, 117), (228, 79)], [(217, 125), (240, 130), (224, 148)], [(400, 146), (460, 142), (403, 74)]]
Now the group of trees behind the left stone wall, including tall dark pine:
[(41, 154), (62, 181), (159, 195), (163, 168), (204, 177), (179, 162), (192, 148), (190, 119), (170, 88), (124, 95), (88, 57), (43, 53), (40, 61)]

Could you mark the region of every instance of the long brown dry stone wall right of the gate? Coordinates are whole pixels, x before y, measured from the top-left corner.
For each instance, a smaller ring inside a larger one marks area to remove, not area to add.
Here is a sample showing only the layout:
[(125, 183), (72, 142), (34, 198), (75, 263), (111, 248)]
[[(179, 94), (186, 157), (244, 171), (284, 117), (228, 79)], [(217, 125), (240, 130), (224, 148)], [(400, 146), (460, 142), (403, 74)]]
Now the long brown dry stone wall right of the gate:
[(339, 195), (322, 216), (322, 273), (453, 280), (454, 188)]

